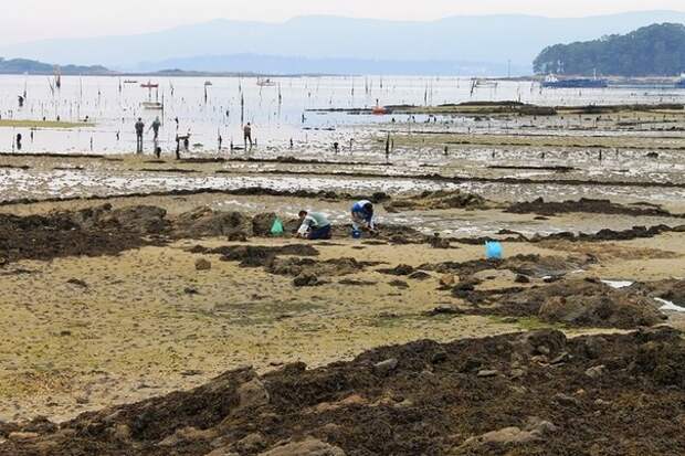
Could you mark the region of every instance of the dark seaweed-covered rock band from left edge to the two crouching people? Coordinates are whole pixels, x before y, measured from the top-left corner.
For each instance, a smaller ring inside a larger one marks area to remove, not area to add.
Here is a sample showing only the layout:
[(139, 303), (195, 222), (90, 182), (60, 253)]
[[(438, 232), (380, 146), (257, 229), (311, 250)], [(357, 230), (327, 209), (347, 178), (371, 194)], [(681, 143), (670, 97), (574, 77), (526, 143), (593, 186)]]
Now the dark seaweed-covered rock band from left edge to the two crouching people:
[[(381, 198), (381, 195), (377, 195)], [(175, 218), (162, 208), (134, 205), (113, 209), (109, 203), (78, 211), (45, 215), (0, 214), (0, 264), (19, 259), (52, 259), (64, 256), (113, 255), (145, 245), (164, 245), (180, 238), (226, 236), (244, 242), (268, 237), (275, 213), (249, 215), (200, 206)], [(297, 219), (282, 220), (285, 236), (299, 226)], [(334, 236), (348, 237), (351, 225), (334, 226)], [(382, 226), (378, 241), (424, 243), (426, 236), (405, 226)]]

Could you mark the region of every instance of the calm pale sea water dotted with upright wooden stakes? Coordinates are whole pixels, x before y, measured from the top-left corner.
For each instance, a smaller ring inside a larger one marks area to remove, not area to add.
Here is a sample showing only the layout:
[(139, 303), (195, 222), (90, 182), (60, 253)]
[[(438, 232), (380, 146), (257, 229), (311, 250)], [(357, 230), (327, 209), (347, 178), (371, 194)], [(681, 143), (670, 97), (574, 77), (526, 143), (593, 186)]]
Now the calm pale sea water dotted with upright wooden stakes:
[[(456, 77), (276, 77), (274, 85), (260, 86), (256, 78), (156, 77), (159, 88), (140, 84), (148, 78), (64, 76), (62, 88), (52, 91), (53, 77), (0, 76), (0, 114), (3, 119), (83, 121), (94, 127), (74, 129), (0, 128), (0, 150), (12, 150), (17, 134), (23, 136), (23, 151), (38, 152), (129, 152), (135, 149), (134, 123), (146, 124), (160, 116), (161, 147), (175, 148), (177, 132), (191, 134), (194, 155), (217, 153), (223, 147), (242, 144), (241, 125), (251, 121), (260, 148), (286, 148), (289, 140), (309, 148), (333, 141), (345, 144), (369, 126), (389, 123), (391, 116), (316, 114), (316, 108), (363, 108), (390, 104), (444, 104), (466, 100), (521, 100), (540, 105), (683, 103), (685, 91), (609, 88), (540, 91), (529, 82), (488, 83), (472, 92), (470, 78)], [(212, 85), (205, 86), (205, 82)], [(19, 108), (18, 96), (27, 100)], [(207, 96), (205, 96), (207, 94)], [(164, 102), (164, 112), (145, 109), (145, 102)], [(242, 108), (241, 108), (242, 105)], [(241, 115), (242, 112), (242, 115)], [(178, 118), (178, 124), (176, 119)], [(398, 119), (403, 120), (403, 119)], [(417, 119), (421, 121), (421, 118)], [(151, 134), (146, 148), (151, 149)]]

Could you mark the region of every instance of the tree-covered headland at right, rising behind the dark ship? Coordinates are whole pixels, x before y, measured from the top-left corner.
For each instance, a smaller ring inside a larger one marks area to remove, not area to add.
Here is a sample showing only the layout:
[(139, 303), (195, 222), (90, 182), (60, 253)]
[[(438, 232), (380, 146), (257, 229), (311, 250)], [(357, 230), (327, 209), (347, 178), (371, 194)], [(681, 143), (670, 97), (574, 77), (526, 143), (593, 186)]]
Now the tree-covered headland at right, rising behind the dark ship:
[(675, 76), (685, 72), (685, 25), (653, 24), (625, 35), (556, 44), (534, 62), (536, 73)]

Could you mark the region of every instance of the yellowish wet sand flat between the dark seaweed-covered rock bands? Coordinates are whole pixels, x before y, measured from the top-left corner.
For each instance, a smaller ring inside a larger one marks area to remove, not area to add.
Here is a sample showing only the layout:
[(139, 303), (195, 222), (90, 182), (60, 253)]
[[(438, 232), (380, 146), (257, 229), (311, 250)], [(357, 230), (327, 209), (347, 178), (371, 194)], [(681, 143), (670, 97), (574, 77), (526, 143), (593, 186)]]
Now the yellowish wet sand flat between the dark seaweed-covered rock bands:
[[(506, 244), (507, 255), (592, 253), (600, 264), (582, 273), (601, 278), (652, 280), (682, 272), (684, 235), (666, 234), (622, 243)], [(268, 245), (292, 241), (254, 240)], [(449, 341), (541, 326), (505, 324), (486, 317), (426, 317), (454, 303), (439, 291), (439, 275), (426, 280), (369, 268), (313, 288), (262, 268), (241, 268), (218, 255), (191, 254), (193, 245), (228, 245), (224, 240), (181, 241), (115, 257), (68, 257), (20, 262), (0, 276), (0, 420), (48, 415), (65, 420), (86, 410), (188, 389), (235, 367), (260, 371), (302, 360), (323, 365), (351, 359), (378, 346), (430, 338)], [(419, 266), (483, 256), (481, 246), (432, 250), (426, 245), (365, 245), (336, 240), (317, 245), (317, 259)], [(207, 257), (211, 271), (194, 262)], [(681, 273), (682, 274), (682, 273)], [(482, 272), (483, 289), (513, 285), (510, 274)], [(83, 284), (71, 284), (70, 279)], [(186, 293), (192, 288), (197, 294)], [(685, 327), (685, 326), (683, 326)], [(570, 333), (588, 331), (572, 330)], [(591, 332), (591, 330), (590, 330)]]

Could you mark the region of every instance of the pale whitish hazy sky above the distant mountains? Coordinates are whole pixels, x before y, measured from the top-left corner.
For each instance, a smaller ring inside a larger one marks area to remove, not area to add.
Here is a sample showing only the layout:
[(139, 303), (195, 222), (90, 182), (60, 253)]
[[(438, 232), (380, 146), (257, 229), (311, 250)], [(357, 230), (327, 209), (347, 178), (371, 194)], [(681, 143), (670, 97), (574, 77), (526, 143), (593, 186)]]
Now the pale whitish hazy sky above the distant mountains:
[(0, 14), (3, 44), (43, 38), (131, 34), (218, 18), (283, 21), (305, 14), (339, 14), (425, 20), (459, 14), (582, 17), (685, 10), (685, 0), (20, 0), (11, 3)]

